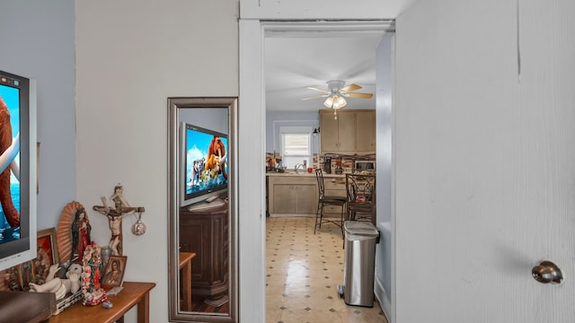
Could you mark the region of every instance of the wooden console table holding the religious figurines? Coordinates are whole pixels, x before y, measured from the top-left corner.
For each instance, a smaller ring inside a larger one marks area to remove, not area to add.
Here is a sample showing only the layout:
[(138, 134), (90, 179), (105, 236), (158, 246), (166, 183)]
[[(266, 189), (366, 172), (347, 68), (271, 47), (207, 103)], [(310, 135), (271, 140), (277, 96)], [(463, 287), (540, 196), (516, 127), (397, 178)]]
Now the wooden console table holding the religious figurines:
[(128, 310), (137, 305), (137, 322), (148, 323), (150, 321), (150, 290), (155, 283), (131, 283), (124, 282), (124, 288), (119, 294), (108, 296), (108, 301), (113, 304), (111, 309), (104, 309), (102, 304), (84, 306), (78, 301), (63, 312), (50, 318), (52, 322), (101, 322), (112, 323), (123, 319)]

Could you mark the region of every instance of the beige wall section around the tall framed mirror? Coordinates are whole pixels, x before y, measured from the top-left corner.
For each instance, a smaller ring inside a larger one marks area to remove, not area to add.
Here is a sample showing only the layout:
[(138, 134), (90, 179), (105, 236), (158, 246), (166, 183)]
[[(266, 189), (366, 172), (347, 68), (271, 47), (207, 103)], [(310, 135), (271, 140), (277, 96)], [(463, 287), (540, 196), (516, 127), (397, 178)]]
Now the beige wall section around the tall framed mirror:
[[(227, 0), (76, 3), (78, 200), (92, 210), (120, 182), (146, 207), (145, 235), (124, 219), (124, 279), (157, 284), (151, 322), (168, 320), (167, 98), (238, 95), (237, 16)], [(107, 219), (89, 214), (107, 244)]]

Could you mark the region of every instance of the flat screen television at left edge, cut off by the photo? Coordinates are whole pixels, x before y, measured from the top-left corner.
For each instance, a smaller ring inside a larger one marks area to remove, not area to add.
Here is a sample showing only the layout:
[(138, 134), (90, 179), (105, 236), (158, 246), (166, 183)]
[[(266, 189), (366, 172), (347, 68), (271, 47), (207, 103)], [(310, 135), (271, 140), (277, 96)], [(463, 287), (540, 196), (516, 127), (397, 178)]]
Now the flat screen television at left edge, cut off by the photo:
[(36, 258), (36, 83), (0, 71), (0, 269)]

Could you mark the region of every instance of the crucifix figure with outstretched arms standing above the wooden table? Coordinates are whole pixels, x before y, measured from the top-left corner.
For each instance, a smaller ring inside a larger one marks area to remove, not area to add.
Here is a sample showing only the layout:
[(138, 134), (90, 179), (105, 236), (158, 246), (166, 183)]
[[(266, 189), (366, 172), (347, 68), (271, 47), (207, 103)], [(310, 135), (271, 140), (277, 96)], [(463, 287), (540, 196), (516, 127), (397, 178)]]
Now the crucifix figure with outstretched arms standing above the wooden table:
[(93, 210), (97, 211), (108, 217), (108, 224), (110, 226), (111, 238), (109, 247), (111, 248), (112, 255), (119, 256), (122, 254), (122, 216), (133, 214), (134, 212), (144, 212), (143, 206), (132, 207), (122, 195), (124, 188), (118, 184), (114, 188), (114, 194), (110, 199), (114, 202), (114, 208), (108, 206), (106, 203), (106, 196), (102, 196), (102, 205), (94, 205)]

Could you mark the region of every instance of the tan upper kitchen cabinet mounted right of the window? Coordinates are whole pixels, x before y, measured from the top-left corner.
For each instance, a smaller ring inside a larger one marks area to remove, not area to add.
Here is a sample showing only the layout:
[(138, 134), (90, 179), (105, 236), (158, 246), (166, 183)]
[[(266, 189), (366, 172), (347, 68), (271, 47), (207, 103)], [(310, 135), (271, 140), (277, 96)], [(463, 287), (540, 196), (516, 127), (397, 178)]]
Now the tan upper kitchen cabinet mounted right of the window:
[(321, 154), (376, 153), (376, 110), (320, 110)]

